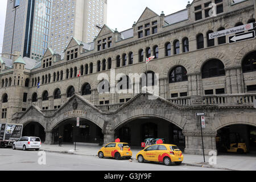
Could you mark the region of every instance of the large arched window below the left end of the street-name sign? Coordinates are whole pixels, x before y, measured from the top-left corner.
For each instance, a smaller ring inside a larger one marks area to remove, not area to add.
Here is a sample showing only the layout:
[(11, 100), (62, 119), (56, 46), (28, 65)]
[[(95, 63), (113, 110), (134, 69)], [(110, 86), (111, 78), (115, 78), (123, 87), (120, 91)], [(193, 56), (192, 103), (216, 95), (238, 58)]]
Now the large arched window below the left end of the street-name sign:
[(224, 64), (218, 59), (207, 61), (202, 68), (202, 78), (225, 76)]

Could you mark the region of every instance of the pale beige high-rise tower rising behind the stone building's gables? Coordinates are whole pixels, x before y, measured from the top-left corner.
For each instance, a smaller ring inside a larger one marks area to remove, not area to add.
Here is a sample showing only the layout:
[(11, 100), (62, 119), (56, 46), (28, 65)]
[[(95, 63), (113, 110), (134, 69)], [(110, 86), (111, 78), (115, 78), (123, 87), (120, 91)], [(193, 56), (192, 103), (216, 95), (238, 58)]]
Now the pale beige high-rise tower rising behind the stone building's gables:
[(62, 52), (72, 37), (93, 42), (106, 24), (107, 0), (52, 0), (50, 48)]

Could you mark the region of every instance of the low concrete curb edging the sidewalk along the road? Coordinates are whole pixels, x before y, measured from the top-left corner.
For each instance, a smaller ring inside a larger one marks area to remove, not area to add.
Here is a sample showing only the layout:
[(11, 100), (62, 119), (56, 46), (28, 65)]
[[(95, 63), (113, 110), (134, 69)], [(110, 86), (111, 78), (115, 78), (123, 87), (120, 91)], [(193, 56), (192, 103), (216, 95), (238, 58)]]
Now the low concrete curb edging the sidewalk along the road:
[[(50, 151), (50, 150), (42, 150), (42, 151), (52, 152), (52, 153), (60, 153), (60, 154), (71, 154), (71, 155), (98, 156), (98, 155), (89, 155), (89, 154), (76, 154), (76, 152), (69, 152), (69, 151)], [(135, 159), (133, 159), (133, 160), (135, 160)], [(210, 166), (208, 164), (192, 164), (192, 163), (182, 163), (182, 164), (183, 164), (183, 166), (193, 166), (193, 167), (221, 169), (221, 170), (228, 170), (228, 171), (238, 171), (236, 169), (214, 167), (214, 166)]]

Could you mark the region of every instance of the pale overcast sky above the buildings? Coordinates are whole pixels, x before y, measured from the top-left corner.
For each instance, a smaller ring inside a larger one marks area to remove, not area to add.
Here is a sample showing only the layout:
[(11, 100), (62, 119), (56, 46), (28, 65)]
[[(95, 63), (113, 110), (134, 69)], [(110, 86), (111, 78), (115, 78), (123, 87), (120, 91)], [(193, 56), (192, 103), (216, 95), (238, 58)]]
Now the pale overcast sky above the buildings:
[[(27, 1), (27, 0), (23, 0)], [(146, 7), (165, 15), (183, 10), (188, 0), (108, 0), (108, 26), (123, 31), (131, 28)], [(192, 2), (192, 0), (191, 0)], [(0, 0), (0, 52), (2, 52), (7, 0)]]

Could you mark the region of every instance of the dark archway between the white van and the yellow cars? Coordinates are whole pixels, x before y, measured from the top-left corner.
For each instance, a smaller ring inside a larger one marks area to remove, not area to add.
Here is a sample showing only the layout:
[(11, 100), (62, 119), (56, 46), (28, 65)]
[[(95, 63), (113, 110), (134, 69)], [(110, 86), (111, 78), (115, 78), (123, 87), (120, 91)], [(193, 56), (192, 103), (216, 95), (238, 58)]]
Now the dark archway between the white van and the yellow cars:
[(80, 118), (77, 126), (77, 118), (69, 118), (60, 122), (52, 130), (54, 143), (57, 143), (59, 137), (63, 137), (65, 143), (95, 143), (103, 144), (104, 135), (102, 129), (95, 123), (85, 118)]

